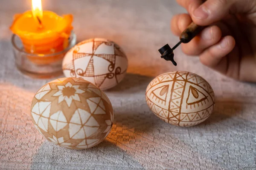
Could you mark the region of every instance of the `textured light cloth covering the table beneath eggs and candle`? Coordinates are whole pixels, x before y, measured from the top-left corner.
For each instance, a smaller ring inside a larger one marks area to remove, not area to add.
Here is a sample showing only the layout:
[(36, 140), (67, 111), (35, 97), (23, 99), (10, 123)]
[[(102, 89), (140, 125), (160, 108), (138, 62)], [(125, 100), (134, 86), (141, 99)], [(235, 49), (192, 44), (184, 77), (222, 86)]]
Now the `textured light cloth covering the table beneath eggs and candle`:
[[(0, 1), (0, 169), (256, 169), (256, 85), (226, 78), (198, 58), (175, 50), (175, 67), (158, 48), (178, 42), (170, 31), (175, 0), (44, 0), (44, 9), (74, 15), (78, 41), (105, 37), (128, 56), (128, 74), (106, 94), (113, 104), (113, 128), (101, 144), (68, 150), (35, 130), (30, 102), (48, 80), (15, 68), (9, 26), (29, 0)], [(195, 127), (176, 127), (157, 118), (145, 102), (145, 89), (157, 75), (175, 70), (205, 78), (216, 95), (215, 110)], [(52, 79), (51, 79), (52, 80)]]

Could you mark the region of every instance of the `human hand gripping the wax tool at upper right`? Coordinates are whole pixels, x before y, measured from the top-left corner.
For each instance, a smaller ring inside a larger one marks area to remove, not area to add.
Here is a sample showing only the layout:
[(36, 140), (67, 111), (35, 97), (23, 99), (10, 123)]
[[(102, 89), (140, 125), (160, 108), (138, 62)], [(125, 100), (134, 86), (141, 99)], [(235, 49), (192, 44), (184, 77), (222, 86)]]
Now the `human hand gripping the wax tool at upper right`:
[(179, 36), (194, 21), (207, 26), (189, 43), (187, 55), (240, 81), (256, 82), (256, 0), (177, 0), (189, 14), (172, 18), (172, 32)]

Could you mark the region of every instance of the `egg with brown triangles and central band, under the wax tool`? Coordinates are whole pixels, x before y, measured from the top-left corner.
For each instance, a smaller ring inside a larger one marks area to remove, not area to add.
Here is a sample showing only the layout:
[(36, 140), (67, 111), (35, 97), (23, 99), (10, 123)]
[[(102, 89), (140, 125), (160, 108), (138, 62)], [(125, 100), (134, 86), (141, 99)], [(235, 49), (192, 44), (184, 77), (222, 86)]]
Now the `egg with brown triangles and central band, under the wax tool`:
[(146, 101), (163, 121), (177, 126), (193, 126), (212, 113), (215, 97), (212, 87), (191, 72), (168, 72), (148, 84)]

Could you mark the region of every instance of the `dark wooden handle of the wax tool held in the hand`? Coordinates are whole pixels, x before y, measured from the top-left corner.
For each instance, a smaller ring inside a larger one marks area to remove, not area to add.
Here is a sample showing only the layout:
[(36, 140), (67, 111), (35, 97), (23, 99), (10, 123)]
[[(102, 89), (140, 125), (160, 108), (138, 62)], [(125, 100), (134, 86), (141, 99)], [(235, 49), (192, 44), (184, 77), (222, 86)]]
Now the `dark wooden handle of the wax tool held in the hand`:
[(204, 29), (204, 26), (198, 26), (192, 22), (180, 35), (180, 41), (182, 43), (188, 43), (191, 41), (199, 32)]

